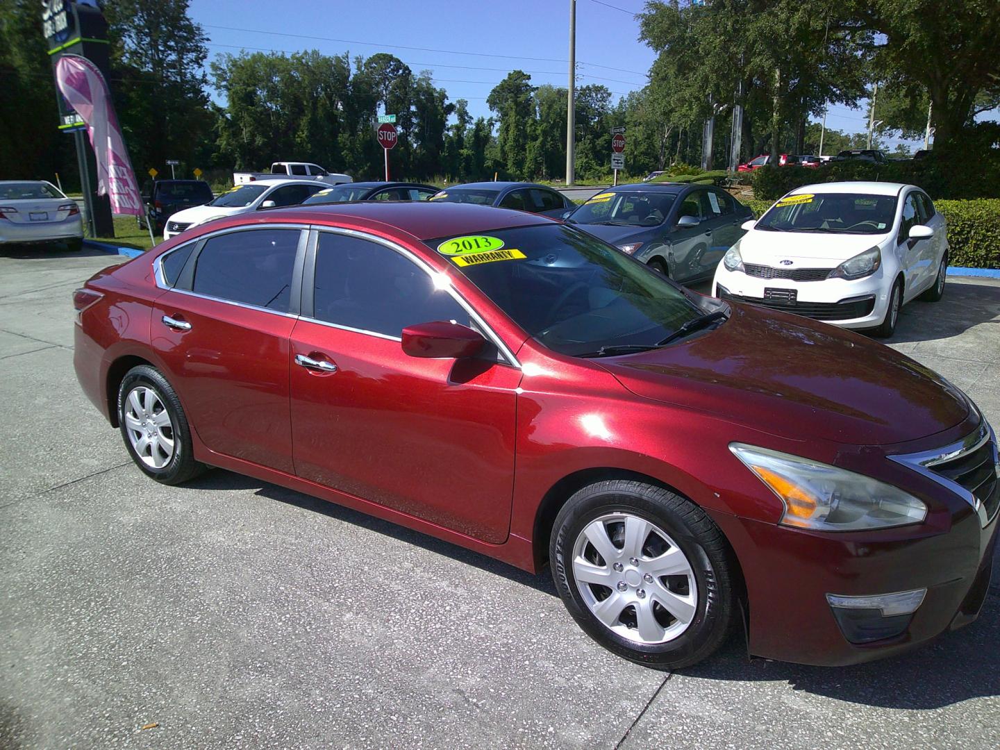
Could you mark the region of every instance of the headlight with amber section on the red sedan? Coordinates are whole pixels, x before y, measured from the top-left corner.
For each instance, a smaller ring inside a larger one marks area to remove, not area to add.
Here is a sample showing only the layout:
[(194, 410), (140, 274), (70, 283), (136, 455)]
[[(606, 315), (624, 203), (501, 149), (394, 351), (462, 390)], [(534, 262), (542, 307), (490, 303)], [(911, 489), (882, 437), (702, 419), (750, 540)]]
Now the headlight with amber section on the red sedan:
[(871, 477), (743, 443), (732, 443), (729, 450), (784, 503), (779, 523), (785, 526), (864, 531), (927, 517), (920, 500)]

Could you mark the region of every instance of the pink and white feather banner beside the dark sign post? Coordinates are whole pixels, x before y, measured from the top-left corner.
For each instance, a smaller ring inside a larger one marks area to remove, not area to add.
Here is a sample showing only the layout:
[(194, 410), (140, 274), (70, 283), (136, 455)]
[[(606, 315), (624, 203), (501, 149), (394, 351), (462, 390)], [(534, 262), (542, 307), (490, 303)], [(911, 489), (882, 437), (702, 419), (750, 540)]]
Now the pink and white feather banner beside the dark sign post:
[(56, 85), (87, 123), (97, 157), (97, 194), (110, 196), (113, 213), (142, 216), (139, 184), (101, 71), (85, 57), (63, 55), (56, 62)]

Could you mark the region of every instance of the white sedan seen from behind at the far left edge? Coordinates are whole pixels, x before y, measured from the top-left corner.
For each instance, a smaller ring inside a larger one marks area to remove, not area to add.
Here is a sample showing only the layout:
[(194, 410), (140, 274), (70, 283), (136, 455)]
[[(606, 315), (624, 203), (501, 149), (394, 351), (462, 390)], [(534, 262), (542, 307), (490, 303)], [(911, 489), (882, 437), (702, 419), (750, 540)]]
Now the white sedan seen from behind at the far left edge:
[(45, 180), (0, 181), (0, 246), (83, 246), (80, 207)]

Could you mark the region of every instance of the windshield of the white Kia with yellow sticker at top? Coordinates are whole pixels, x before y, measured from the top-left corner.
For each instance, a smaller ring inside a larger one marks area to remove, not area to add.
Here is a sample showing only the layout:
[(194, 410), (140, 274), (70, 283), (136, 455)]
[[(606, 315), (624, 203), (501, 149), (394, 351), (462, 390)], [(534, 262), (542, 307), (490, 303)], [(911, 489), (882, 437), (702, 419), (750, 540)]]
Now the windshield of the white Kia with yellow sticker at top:
[(885, 234), (896, 217), (896, 196), (855, 193), (786, 195), (754, 225), (770, 232)]

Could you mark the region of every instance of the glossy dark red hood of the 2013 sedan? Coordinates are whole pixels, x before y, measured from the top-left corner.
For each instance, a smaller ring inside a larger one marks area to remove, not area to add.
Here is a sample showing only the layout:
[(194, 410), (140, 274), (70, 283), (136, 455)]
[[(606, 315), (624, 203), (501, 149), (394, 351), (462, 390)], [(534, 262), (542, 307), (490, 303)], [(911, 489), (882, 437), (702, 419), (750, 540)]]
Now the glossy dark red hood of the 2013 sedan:
[(740, 304), (695, 338), (597, 361), (638, 396), (792, 439), (901, 443), (969, 413), (958, 389), (887, 346)]

